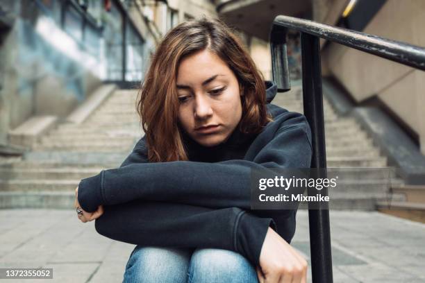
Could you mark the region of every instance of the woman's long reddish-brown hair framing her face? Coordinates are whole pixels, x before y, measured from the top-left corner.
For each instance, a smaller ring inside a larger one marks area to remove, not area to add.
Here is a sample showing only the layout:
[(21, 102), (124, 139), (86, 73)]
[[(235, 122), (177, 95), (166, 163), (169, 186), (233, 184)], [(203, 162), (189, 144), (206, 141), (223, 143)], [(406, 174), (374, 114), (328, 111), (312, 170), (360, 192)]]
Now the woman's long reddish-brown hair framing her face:
[(178, 127), (178, 64), (208, 49), (233, 71), (244, 91), (240, 131), (258, 133), (272, 121), (266, 109), (265, 83), (249, 53), (219, 19), (202, 17), (172, 28), (158, 44), (139, 91), (137, 110), (146, 135), (149, 162), (188, 160)]

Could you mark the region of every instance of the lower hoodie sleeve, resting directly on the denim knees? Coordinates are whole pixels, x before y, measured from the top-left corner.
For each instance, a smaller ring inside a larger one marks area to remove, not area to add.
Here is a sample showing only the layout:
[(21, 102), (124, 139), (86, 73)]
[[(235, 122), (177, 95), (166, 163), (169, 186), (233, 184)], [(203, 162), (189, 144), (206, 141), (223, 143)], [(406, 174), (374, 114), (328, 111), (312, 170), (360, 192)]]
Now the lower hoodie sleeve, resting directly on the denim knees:
[[(239, 252), (256, 266), (272, 218), (237, 207), (209, 209), (178, 203), (133, 200), (104, 207), (97, 232), (116, 241), (141, 246), (222, 248)], [(290, 239), (285, 239), (290, 241)]]

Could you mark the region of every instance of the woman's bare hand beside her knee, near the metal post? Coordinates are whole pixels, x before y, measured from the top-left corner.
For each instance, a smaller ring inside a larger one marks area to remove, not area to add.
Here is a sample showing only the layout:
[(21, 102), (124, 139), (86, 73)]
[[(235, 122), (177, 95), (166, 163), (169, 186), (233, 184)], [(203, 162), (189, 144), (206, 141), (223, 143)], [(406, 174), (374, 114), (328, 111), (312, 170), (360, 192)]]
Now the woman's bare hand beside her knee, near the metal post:
[(260, 283), (307, 282), (307, 261), (272, 228), (267, 231), (257, 267)]

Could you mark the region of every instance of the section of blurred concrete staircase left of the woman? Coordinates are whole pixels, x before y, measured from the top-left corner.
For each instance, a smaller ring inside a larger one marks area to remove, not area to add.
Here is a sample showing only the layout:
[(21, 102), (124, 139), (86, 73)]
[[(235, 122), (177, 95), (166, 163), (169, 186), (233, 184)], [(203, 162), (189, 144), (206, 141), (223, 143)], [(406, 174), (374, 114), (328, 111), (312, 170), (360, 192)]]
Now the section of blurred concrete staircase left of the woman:
[(135, 90), (116, 90), (83, 123), (62, 123), (23, 160), (0, 165), (0, 208), (72, 208), (81, 179), (119, 166), (142, 137)]

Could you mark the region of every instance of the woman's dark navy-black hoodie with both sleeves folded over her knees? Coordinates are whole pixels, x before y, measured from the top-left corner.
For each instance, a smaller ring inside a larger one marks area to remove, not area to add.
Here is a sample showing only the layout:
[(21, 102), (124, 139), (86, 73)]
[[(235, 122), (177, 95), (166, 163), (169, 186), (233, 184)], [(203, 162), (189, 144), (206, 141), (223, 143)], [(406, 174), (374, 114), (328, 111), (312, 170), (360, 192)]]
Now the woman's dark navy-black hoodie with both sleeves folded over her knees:
[(81, 180), (81, 207), (94, 212), (104, 205), (95, 221), (97, 232), (142, 246), (233, 250), (254, 265), (269, 227), (290, 243), (296, 211), (251, 210), (250, 173), (309, 168), (310, 128), (302, 114), (269, 104), (276, 85), (265, 83), (274, 121), (260, 134), (247, 135), (237, 127), (213, 147), (183, 135), (190, 161), (153, 163), (142, 137), (119, 168)]

